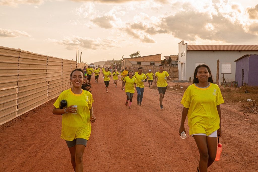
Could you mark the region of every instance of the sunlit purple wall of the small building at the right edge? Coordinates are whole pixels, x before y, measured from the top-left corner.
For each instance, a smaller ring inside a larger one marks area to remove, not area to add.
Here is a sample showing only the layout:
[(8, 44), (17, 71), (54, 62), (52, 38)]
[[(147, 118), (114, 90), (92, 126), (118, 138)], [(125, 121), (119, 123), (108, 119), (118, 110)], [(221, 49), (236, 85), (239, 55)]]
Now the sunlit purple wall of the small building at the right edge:
[(251, 55), (249, 57), (248, 85), (258, 86), (258, 55)]

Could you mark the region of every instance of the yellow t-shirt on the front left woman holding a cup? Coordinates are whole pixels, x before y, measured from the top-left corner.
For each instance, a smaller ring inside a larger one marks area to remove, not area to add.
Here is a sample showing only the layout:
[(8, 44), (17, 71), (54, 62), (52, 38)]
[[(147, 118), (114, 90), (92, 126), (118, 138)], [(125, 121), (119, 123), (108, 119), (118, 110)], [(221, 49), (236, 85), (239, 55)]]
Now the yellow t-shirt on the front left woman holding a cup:
[(67, 106), (77, 105), (77, 114), (64, 113), (62, 115), (61, 138), (72, 141), (76, 138), (89, 140), (91, 135), (90, 109), (94, 102), (92, 94), (83, 90), (81, 94), (74, 94), (71, 88), (63, 91), (55, 101), (55, 108), (60, 108), (60, 101), (66, 100)]

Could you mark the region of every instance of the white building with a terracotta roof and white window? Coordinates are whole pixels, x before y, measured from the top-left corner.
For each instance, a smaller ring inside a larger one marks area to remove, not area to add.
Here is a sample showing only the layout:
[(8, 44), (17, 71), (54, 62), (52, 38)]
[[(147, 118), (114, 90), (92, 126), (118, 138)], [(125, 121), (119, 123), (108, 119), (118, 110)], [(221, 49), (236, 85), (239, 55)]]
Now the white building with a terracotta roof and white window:
[(223, 74), (228, 82), (235, 80), (234, 61), (246, 54), (258, 54), (258, 45), (188, 45), (181, 41), (178, 43), (178, 53), (178, 80), (189, 81), (189, 77), (193, 80), (195, 68), (199, 64), (206, 64), (211, 69), (215, 83), (219, 60), (219, 82), (222, 82)]

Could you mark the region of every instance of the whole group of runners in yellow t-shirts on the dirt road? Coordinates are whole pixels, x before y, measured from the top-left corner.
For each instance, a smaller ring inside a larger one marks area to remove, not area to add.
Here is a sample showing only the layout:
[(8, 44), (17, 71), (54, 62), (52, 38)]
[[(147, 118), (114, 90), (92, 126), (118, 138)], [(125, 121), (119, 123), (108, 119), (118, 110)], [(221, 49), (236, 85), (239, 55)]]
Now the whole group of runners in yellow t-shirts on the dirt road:
[[(95, 82), (98, 83), (99, 68), (92, 70), (89, 67), (83, 70), (73, 70), (70, 74), (73, 87), (63, 91), (54, 103), (53, 114), (62, 115), (61, 138), (66, 141), (69, 148), (74, 171), (83, 171), (83, 153), (91, 134), (91, 122), (96, 120), (92, 106), (94, 101), (90, 92), (92, 72), (95, 73)], [(109, 68), (102, 68), (106, 93), (108, 93), (110, 77), (113, 76), (114, 84), (117, 86), (119, 75), (121, 75), (123, 81), (122, 89), (125, 90), (127, 96), (125, 105), (128, 105), (129, 109), (131, 108), (135, 88), (137, 104), (142, 105), (144, 82), (147, 79), (149, 80), (149, 86), (152, 82), (157, 83), (160, 109), (164, 109), (162, 101), (168, 85), (166, 81), (170, 77), (164, 71), (163, 65), (159, 65), (159, 71), (155, 75), (151, 70), (145, 75), (142, 73), (141, 67), (135, 73), (125, 68), (121, 74), (116, 69), (111, 73)], [(62, 105), (63, 101), (67, 102), (66, 106)], [(216, 138), (222, 135), (221, 103), (224, 103), (224, 100), (220, 88), (213, 84), (211, 70), (205, 64), (197, 66), (193, 84), (186, 89), (182, 97), (183, 111), (179, 134), (186, 133), (184, 122), (188, 117), (189, 134), (195, 139), (200, 154), (198, 172), (207, 171), (207, 168), (215, 160)]]

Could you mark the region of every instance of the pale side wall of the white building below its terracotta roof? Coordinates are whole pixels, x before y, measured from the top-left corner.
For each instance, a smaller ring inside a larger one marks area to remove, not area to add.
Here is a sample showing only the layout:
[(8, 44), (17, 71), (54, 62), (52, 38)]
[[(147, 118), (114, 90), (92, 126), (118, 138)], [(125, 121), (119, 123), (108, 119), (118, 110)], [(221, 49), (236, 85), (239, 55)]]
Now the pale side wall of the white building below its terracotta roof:
[[(180, 54), (180, 52), (179, 52)], [(222, 82), (223, 74), (221, 73), (221, 63), (231, 63), (231, 73), (225, 74), (225, 79), (228, 82), (235, 80), (236, 62), (238, 58), (246, 54), (258, 54), (258, 51), (188, 51), (187, 53), (187, 70), (186, 78), (193, 79), (193, 73), (196, 63), (205, 63), (211, 69), (213, 81), (216, 81), (217, 60), (220, 61), (219, 67), (219, 82)], [(183, 59), (184, 60), (184, 59)]]

